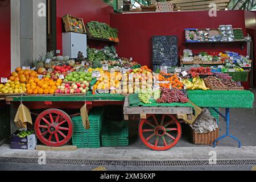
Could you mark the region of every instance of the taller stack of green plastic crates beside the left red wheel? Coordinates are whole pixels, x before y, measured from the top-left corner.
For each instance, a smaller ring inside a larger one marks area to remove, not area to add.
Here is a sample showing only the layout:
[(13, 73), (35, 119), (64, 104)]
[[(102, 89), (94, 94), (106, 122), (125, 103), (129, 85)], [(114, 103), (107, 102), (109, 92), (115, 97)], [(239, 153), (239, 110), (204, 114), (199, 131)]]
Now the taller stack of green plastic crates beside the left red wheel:
[(94, 107), (89, 112), (90, 129), (85, 130), (82, 117), (73, 117), (73, 145), (78, 148), (98, 148), (101, 146), (101, 131), (104, 122), (102, 107)]

